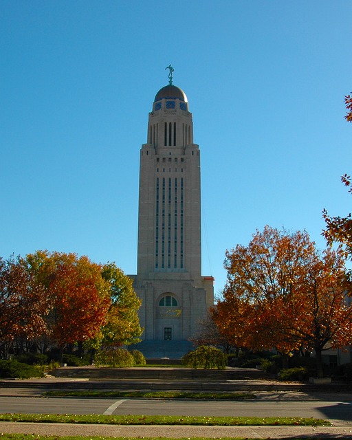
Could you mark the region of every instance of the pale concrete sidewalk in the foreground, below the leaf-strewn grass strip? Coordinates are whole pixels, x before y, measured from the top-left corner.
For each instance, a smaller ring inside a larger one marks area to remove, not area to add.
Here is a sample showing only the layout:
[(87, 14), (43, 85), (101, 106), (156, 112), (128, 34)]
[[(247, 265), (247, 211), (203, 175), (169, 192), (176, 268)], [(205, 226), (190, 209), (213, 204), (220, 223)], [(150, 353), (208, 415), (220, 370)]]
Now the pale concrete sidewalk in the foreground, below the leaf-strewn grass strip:
[(352, 423), (337, 426), (121, 426), (0, 422), (0, 432), (55, 436), (168, 437), (174, 439), (182, 437), (244, 437), (247, 439), (329, 437), (352, 439)]

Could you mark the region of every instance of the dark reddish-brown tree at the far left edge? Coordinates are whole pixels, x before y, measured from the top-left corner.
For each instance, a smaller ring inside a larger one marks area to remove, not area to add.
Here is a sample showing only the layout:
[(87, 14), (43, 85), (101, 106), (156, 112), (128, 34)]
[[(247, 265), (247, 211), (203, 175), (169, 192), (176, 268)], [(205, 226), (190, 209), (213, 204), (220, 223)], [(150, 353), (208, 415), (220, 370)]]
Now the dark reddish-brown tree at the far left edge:
[(30, 341), (46, 332), (49, 307), (45, 288), (21, 258), (0, 258), (0, 341), (3, 358), (15, 340)]

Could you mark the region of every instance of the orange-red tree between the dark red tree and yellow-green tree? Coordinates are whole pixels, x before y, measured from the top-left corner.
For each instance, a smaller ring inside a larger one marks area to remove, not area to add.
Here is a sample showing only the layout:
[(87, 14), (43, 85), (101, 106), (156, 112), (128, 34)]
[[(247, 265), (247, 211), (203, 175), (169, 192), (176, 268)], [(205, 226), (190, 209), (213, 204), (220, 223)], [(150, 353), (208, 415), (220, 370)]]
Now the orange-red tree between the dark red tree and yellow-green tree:
[(60, 252), (38, 251), (26, 259), (50, 298), (46, 322), (61, 354), (67, 344), (96, 338), (111, 304), (109, 283), (101, 276), (101, 265), (87, 256)]

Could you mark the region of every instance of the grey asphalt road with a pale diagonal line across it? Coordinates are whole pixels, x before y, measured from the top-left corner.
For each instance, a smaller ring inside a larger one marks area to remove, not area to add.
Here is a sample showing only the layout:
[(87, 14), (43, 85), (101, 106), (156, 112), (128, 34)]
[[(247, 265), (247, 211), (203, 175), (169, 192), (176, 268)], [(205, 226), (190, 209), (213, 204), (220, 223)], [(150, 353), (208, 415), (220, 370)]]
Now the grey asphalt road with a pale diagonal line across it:
[(177, 401), (1, 397), (0, 412), (31, 414), (315, 417), (352, 421), (352, 401)]

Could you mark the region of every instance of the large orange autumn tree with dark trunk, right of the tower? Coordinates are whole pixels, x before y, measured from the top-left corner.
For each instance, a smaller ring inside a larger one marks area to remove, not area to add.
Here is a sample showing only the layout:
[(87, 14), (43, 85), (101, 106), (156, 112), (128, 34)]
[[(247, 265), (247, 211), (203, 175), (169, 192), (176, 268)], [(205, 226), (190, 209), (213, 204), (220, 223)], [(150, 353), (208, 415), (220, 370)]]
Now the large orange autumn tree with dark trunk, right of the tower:
[(307, 232), (266, 226), (247, 247), (226, 252), (225, 269), (223, 300), (213, 318), (237, 346), (286, 354), (314, 349), (321, 377), (327, 344), (352, 342), (344, 259), (332, 250), (320, 255)]

